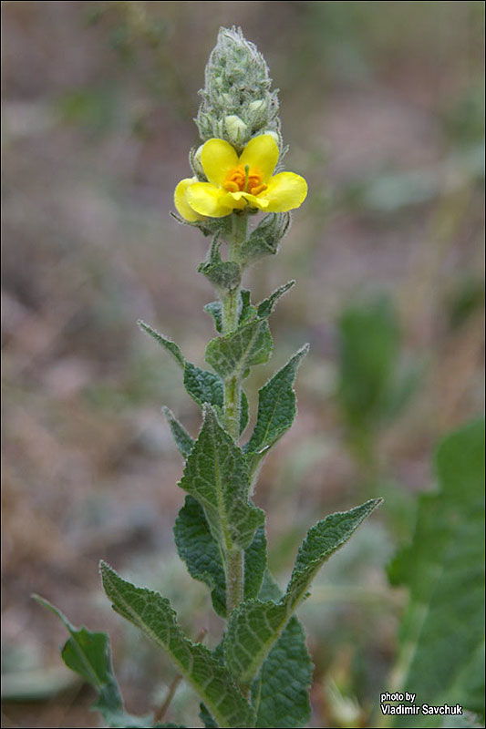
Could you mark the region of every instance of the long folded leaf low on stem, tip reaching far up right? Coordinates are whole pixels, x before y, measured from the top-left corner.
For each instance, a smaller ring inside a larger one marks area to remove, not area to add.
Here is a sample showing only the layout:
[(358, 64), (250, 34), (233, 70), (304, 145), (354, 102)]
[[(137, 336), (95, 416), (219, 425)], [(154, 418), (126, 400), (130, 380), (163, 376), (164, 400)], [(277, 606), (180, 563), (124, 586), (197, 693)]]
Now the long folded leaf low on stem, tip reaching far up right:
[(300, 546), (295, 568), (279, 602), (245, 601), (233, 611), (224, 638), (226, 664), (239, 683), (253, 681), (265, 657), (304, 600), (315, 573), (349, 539), (381, 503), (374, 498), (360, 507), (331, 514), (309, 530)]

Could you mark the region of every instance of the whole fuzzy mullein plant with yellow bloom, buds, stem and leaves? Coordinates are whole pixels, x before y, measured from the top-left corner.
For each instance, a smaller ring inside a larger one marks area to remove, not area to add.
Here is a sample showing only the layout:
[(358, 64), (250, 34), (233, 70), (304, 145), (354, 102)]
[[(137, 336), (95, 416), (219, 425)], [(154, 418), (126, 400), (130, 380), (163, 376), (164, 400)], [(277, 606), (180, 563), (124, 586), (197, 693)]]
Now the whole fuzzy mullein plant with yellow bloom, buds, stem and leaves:
[[(252, 499), (265, 455), (293, 423), (295, 375), (308, 345), (259, 391), (253, 431), (243, 437), (249, 409), (243, 380), (269, 359), (269, 317), (295, 282), (252, 303), (242, 280), (251, 264), (277, 252), (290, 225), (289, 211), (303, 203), (307, 185), (294, 172), (279, 171), (286, 148), (277, 94), (264, 57), (239, 28), (220, 30), (201, 95), (196, 124), (202, 145), (191, 150), (192, 176), (179, 182), (174, 203), (178, 221), (211, 238), (198, 269), (216, 293), (204, 307), (216, 329), (205, 355), (211, 369), (189, 362), (178, 344), (149, 324), (140, 322), (140, 327), (179, 364), (188, 394), (202, 409), (196, 439), (164, 409), (185, 459), (179, 487), (186, 497), (174, 537), (191, 577), (211, 590), (212, 607), (225, 621), (222, 641), (214, 650), (192, 642), (166, 598), (135, 587), (104, 561), (101, 579), (113, 609), (167, 652), (191, 684), (204, 726), (304, 726), (310, 718), (313, 666), (295, 610), (316, 572), (380, 499), (317, 522), (298, 549), (287, 586), (280, 589), (267, 567), (265, 514)], [(160, 713), (127, 714), (106, 633), (75, 628), (53, 605), (37, 600), (65, 623), (70, 637), (62, 657), (98, 690), (94, 708), (109, 726), (174, 725), (160, 724)]]

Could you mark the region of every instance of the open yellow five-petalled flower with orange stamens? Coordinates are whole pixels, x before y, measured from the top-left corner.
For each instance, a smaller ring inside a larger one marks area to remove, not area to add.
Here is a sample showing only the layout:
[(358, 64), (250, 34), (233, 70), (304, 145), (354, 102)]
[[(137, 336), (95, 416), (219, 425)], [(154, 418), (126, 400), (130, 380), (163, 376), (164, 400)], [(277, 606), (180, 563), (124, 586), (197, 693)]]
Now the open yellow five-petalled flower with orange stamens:
[(273, 175), (278, 147), (272, 136), (250, 139), (240, 157), (224, 139), (208, 139), (201, 163), (208, 182), (197, 178), (181, 180), (174, 203), (186, 221), (222, 218), (245, 208), (285, 212), (305, 200), (307, 183), (294, 172)]

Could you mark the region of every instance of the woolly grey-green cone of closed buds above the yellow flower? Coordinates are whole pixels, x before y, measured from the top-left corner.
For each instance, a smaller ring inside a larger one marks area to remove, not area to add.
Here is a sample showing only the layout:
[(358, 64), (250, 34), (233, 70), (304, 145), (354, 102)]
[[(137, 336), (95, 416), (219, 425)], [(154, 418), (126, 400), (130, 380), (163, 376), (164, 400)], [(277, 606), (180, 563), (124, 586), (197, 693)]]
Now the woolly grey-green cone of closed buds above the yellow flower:
[[(202, 104), (195, 122), (201, 139), (225, 139), (240, 154), (252, 137), (270, 134), (283, 142), (277, 92), (264, 56), (243, 36), (241, 28), (220, 28), (206, 66)], [(197, 152), (191, 162), (197, 170)]]

